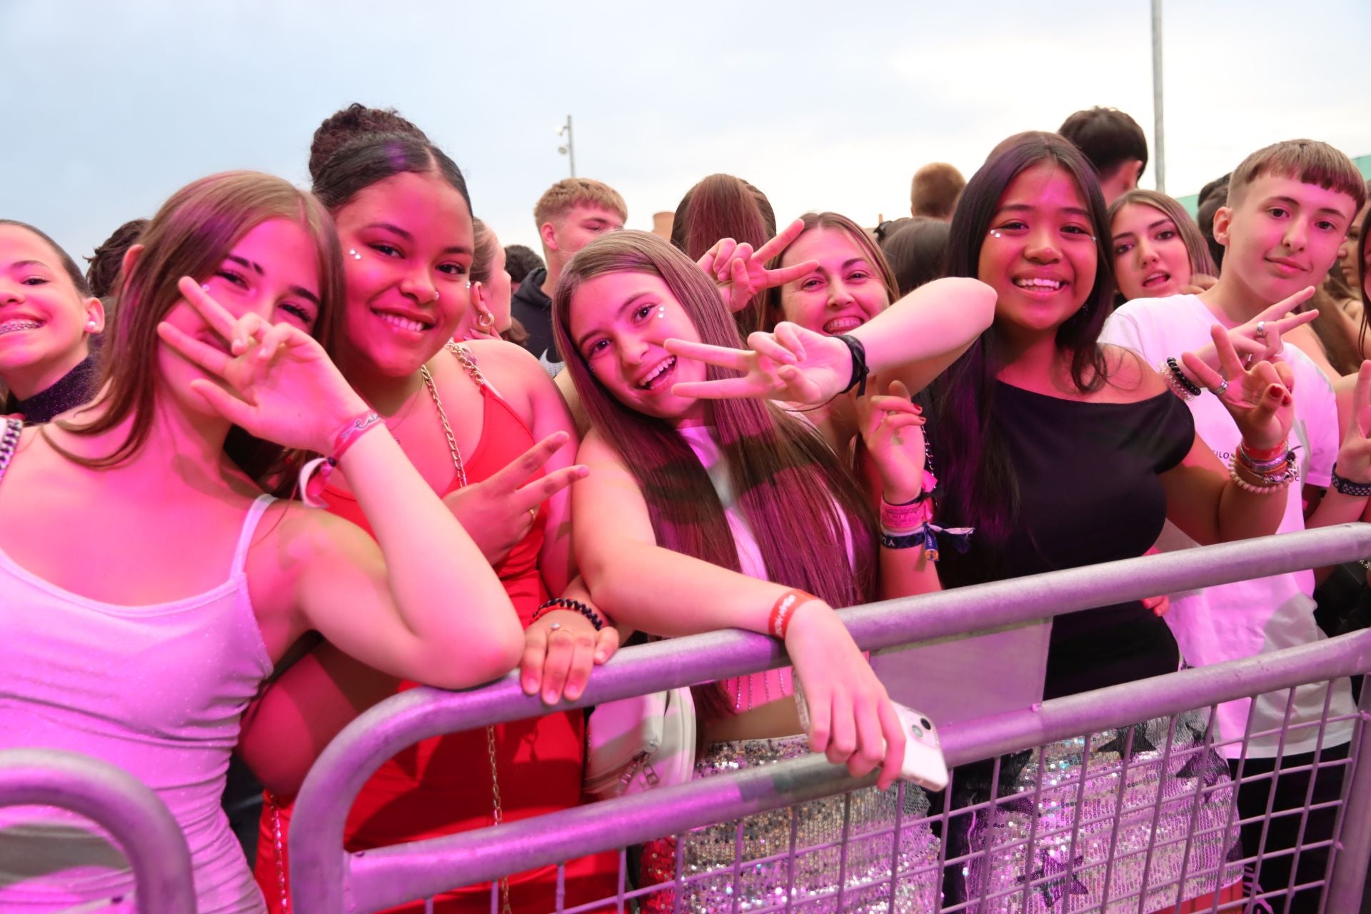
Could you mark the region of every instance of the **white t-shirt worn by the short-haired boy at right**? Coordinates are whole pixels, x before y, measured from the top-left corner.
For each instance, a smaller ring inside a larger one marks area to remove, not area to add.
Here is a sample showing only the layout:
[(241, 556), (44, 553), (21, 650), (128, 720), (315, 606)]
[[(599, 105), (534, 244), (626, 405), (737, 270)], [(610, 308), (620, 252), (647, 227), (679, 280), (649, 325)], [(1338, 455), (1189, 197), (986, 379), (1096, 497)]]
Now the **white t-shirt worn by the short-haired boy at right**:
[[(1194, 295), (1165, 299), (1134, 299), (1111, 315), (1100, 334), (1101, 343), (1112, 343), (1139, 354), (1148, 365), (1157, 366), (1168, 356), (1193, 352), (1211, 343), (1209, 328), (1217, 323), (1204, 301)], [(1333, 462), (1338, 454), (1338, 403), (1328, 380), (1294, 347), (1282, 354), (1294, 371), (1294, 426), (1291, 447), (1296, 448), (1298, 480), (1286, 492), (1286, 511), (1276, 533), (1304, 529), (1304, 482), (1327, 486)], [(1226, 465), (1238, 447), (1238, 426), (1217, 397), (1198, 396), (1186, 406), (1196, 419), (1201, 440)], [(1279, 497), (1279, 496), (1272, 496)], [(1157, 541), (1163, 551), (1198, 545), (1169, 521)], [(1254, 581), (1237, 581), (1219, 586), (1171, 595), (1167, 622), (1180, 645), (1187, 663), (1204, 666), (1237, 660), (1256, 654), (1267, 654), (1287, 647), (1309, 644), (1324, 639), (1313, 621), (1313, 571), (1294, 571)], [(1286, 754), (1312, 752), (1318, 741), (1318, 721), (1323, 715), (1326, 689), (1311, 685), (1296, 689), (1290, 713), (1290, 733)], [(1259, 696), (1254, 702), (1239, 699), (1219, 706), (1219, 736), (1242, 740), (1248, 715), (1253, 715), (1252, 732), (1279, 730), (1285, 721), (1289, 691)], [(1352, 704), (1350, 684), (1337, 680), (1328, 717), (1356, 711)], [(1300, 724), (1313, 726), (1297, 726)], [(1352, 722), (1330, 724), (1323, 745), (1341, 745), (1352, 739)], [(1248, 755), (1271, 758), (1276, 754), (1279, 733), (1253, 736)], [(1239, 743), (1220, 747), (1228, 758), (1237, 758)]]

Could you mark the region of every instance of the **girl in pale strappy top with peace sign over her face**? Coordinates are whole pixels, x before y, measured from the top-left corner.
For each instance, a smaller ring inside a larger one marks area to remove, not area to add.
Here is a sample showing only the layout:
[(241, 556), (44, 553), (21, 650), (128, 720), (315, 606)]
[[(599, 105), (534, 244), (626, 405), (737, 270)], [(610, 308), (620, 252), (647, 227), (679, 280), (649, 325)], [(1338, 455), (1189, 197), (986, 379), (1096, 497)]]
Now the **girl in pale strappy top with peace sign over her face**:
[[(154, 788), (202, 914), (265, 910), (219, 793), (292, 643), (318, 630), (447, 688), (503, 674), (524, 644), (476, 543), (329, 360), (341, 288), (314, 197), (252, 173), (196, 181), (126, 255), (96, 400), (0, 445), (0, 748), (85, 752)], [(347, 473), (374, 539), (262, 493), (304, 451)], [(0, 824), (0, 909), (132, 910), (128, 863), (80, 817)]]

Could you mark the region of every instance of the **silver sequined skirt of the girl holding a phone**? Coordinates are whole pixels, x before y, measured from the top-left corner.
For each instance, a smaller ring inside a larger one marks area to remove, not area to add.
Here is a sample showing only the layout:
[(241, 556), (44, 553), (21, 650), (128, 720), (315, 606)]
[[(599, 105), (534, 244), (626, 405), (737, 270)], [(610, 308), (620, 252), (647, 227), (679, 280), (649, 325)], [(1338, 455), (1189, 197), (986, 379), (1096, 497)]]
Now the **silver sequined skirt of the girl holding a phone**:
[[(809, 754), (803, 736), (775, 740), (712, 743), (695, 765), (695, 777), (713, 777), (758, 765), (772, 765)], [(899, 878), (895, 903), (890, 904), (893, 829), (898, 792), (865, 788), (853, 792), (847, 811), (846, 859), (843, 815), (847, 796), (831, 796), (795, 807), (760, 813), (742, 819), (742, 850), (738, 874), (738, 910), (764, 907), (781, 910), (787, 898), (792, 910), (803, 914), (876, 914), (936, 911), (941, 873), (938, 839), (923, 819), (928, 796), (905, 785), (905, 806), (899, 833)], [(794, 873), (791, 873), (791, 814), (794, 813)], [(683, 911), (732, 911), (735, 903), (733, 862), (739, 855), (739, 821), (694, 829), (681, 837)], [(884, 830), (884, 835), (873, 832)], [(827, 847), (823, 847), (827, 845)], [(651, 841), (643, 852), (644, 884), (673, 882), (676, 840)], [(775, 856), (776, 859), (769, 859)], [(842, 904), (836, 889), (843, 874)], [(698, 878), (692, 878), (698, 877)], [(816, 895), (825, 895), (816, 898)], [(648, 914), (672, 911), (673, 889), (647, 896)]]

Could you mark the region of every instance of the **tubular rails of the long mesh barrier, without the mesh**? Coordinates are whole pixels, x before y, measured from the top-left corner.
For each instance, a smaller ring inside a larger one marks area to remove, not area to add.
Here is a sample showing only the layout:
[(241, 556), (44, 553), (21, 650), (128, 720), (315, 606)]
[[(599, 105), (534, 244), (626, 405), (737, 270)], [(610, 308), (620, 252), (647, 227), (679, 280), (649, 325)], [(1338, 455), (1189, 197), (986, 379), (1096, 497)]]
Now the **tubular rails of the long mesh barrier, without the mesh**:
[[(876, 650), (1156, 593), (1334, 565), (1367, 555), (1371, 555), (1371, 525), (1352, 523), (888, 600), (843, 610), (842, 618), (860, 647)], [(1127, 724), (1139, 719), (1143, 711), (1156, 717), (1186, 710), (1194, 707), (1187, 704), (1190, 697), (1186, 696), (1198, 693), (1193, 688), (1198, 682), (1211, 689), (1200, 702), (1208, 706), (1230, 697), (1294, 685), (1298, 678), (1308, 681), (1311, 673), (1346, 676), (1371, 666), (1367, 663), (1368, 655), (1363, 641), (1339, 639), (1337, 647), (1331, 648), (1335, 656), (1330, 655), (1328, 663), (1311, 669), (1308, 666), (1311, 656), (1322, 659), (1318, 651), (1324, 650), (1330, 650), (1330, 645), (1294, 648), (1294, 656), (1305, 662), (1297, 676), (1289, 673), (1291, 667), (1285, 666), (1286, 662), (1281, 656), (1264, 655), (1164, 677), (1175, 678), (1180, 684), (1172, 687), (1180, 692), (1169, 702), (1161, 700), (1161, 696), (1172, 695), (1158, 688), (1157, 682), (1161, 680), (1149, 680), (1146, 695), (1131, 702), (1126, 714), (1120, 714), (1117, 707), (1098, 711), (1102, 693), (1097, 692), (1091, 700), (1058, 699), (1036, 711), (999, 715), (964, 725), (982, 728), (976, 739), (958, 736), (962, 732), (971, 734), (975, 732), (972, 729), (949, 728), (943, 736), (949, 761), (953, 763), (968, 761), (971, 756), (967, 754), (972, 751), (976, 758), (984, 758), (1005, 752), (1010, 747), (1024, 748), (1053, 739), (1078, 736), (1093, 726), (1098, 729)], [(1307, 651), (1316, 654), (1307, 655), (1304, 654)], [(1282, 652), (1285, 654), (1289, 652)], [(780, 643), (747, 632), (713, 632), (673, 639), (620, 654), (596, 670), (580, 700), (562, 703), (558, 707), (565, 710), (599, 704), (664, 688), (772, 669), (786, 662)], [(1286, 676), (1282, 677), (1282, 673)], [(1296, 680), (1290, 676), (1296, 676)], [(1095, 708), (1089, 707), (1091, 704)], [(454, 852), (459, 850), (463, 856), (461, 869), (444, 866), (441, 885), (435, 884), (432, 888), (425, 888), (429, 887), (425, 874), (418, 872), (413, 861), (407, 862), (402, 855), (380, 850), (350, 856), (343, 851), (343, 829), (352, 800), (372, 773), (396, 751), (439, 733), (537, 717), (546, 711), (536, 696), (522, 693), (517, 677), (510, 674), (496, 684), (472, 692), (410, 689), (387, 699), (354, 721), (325, 750), (306, 778), (298, 799), (291, 830), (291, 877), (298, 910), (370, 910), (418, 898), (430, 891), (520, 872), (533, 866), (535, 861), (547, 863), (553, 859), (579, 856), (590, 850), (585, 844), (590, 821), (595, 819), (596, 833), (602, 833), (603, 819), (610, 814), (616, 817), (616, 826), (613, 841), (605, 847), (710, 821), (707, 815), (701, 818), (703, 813), (736, 817), (755, 811), (746, 803), (740, 806), (740, 800), (746, 798), (749, 803), (764, 803), (775, 799), (776, 785), (781, 781), (787, 788), (786, 796), (776, 802), (776, 806), (808, 799), (810, 795), (840, 792), (857, 784), (846, 780), (835, 781), (834, 770), (821, 759), (801, 759), (768, 766), (765, 773), (758, 773), (755, 777), (728, 778), (727, 785), (714, 787), (709, 781), (699, 781), (669, 788), (673, 803), (684, 804), (679, 808), (673, 806), (669, 815), (661, 804), (661, 800), (666, 799), (665, 791), (616, 800), (613, 807), (598, 804), (566, 810), (536, 821), (500, 826), (499, 845), (506, 848), (502, 851), (506, 855), (499, 858), (500, 866), (494, 866), (489, 848), (481, 847), (481, 844), (489, 845), (492, 840), (492, 833), (488, 830), (425, 841), (424, 850), (441, 847), (444, 859), (448, 858), (450, 850)], [(1063, 715), (1064, 724), (1053, 726), (1046, 724), (1058, 714)], [(958, 739), (964, 741), (958, 743)], [(653, 800), (653, 796), (661, 799)], [(757, 808), (773, 807), (757, 806)], [(643, 817), (642, 821), (635, 818), (635, 810)], [(646, 815), (647, 811), (651, 813), (650, 817)], [(540, 829), (548, 829), (554, 819), (558, 835), (537, 833)], [(629, 837), (631, 822), (640, 822), (642, 828), (648, 830), (635, 829), (632, 835), (636, 837)], [(420, 847), (420, 844), (409, 845), (411, 854)], [(555, 852), (554, 847), (558, 848)], [(424, 866), (432, 866), (433, 858), (425, 856), (428, 862)], [(385, 878), (380, 881), (389, 882), (385, 888), (372, 878), (383, 872)], [(356, 885), (354, 874), (361, 877)]]

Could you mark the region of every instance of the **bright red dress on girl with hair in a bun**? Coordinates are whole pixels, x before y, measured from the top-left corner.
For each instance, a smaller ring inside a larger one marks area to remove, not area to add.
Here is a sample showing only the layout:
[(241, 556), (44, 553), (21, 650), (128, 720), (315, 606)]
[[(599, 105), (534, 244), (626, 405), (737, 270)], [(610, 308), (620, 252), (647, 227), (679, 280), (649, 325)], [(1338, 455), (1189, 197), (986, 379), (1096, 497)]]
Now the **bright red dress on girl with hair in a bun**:
[[(465, 458), (469, 482), (478, 482), (533, 447), (524, 422), (494, 391), (481, 384), (484, 425), (476, 451)], [(457, 478), (444, 495), (459, 488)], [(329, 489), (329, 511), (370, 532), (354, 497)], [(496, 566), (520, 621), (526, 626), (547, 599), (537, 571), (543, 545), (544, 514), (533, 529)], [(414, 688), (403, 682), (400, 691)], [(585, 765), (585, 718), (581, 711), (548, 714), (495, 728), (495, 758), (506, 822), (580, 804)], [(293, 799), (287, 803), (270, 793), (262, 814), (255, 876), (273, 914), (287, 914), (281, 898), (282, 873), (289, 876), (285, 839)], [(280, 817), (282, 843), (277, 859), (276, 828)], [(391, 844), (440, 837), (494, 825), (491, 762), (485, 728), (426, 739), (385, 762), (366, 782), (348, 815), (345, 847), (365, 851)], [(566, 907), (609, 898), (618, 888), (618, 854), (583, 856), (566, 865)], [(557, 867), (510, 877), (510, 904), (515, 914), (555, 910)], [(392, 909), (418, 913), (422, 902)], [(435, 898), (435, 911), (477, 914), (491, 910), (489, 882), (470, 885)]]

